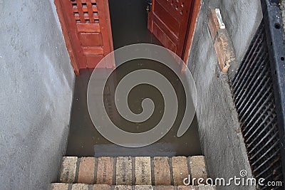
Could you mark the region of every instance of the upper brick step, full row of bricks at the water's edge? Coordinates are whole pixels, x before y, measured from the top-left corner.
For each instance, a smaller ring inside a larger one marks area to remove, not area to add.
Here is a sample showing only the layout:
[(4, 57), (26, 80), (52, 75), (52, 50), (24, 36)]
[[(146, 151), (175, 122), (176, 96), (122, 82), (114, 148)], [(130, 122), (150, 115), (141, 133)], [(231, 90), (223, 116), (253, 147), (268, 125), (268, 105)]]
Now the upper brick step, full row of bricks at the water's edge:
[[(183, 179), (207, 179), (203, 156), (63, 157), (58, 181), (67, 184), (180, 186)], [(204, 180), (205, 181), (205, 180)], [(197, 185), (197, 180), (195, 184)]]

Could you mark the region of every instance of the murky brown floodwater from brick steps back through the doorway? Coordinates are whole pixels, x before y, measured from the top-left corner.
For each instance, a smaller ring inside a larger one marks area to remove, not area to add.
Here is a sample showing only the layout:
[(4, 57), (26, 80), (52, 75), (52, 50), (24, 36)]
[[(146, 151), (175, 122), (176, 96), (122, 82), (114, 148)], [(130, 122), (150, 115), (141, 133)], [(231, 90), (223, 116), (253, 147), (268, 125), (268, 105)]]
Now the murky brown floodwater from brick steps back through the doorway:
[[(139, 0), (109, 0), (110, 19), (113, 31), (114, 48), (120, 48), (132, 43), (155, 43), (159, 41), (147, 30), (147, 13), (145, 1)], [(134, 113), (142, 112), (141, 102), (150, 98), (155, 103), (152, 116), (142, 123), (129, 122), (120, 117), (114, 102), (115, 86), (126, 74), (138, 69), (152, 69), (162, 73), (172, 83), (177, 94), (178, 113), (174, 125), (165, 137), (154, 144), (140, 148), (120, 147), (102, 137), (90, 120), (87, 107), (87, 88), (93, 69), (81, 70), (76, 76), (71, 110), (71, 126), (68, 137), (67, 156), (101, 157), (101, 156), (192, 156), (202, 154), (197, 119), (194, 118), (189, 130), (177, 137), (177, 130), (185, 112), (185, 92), (180, 80), (169, 68), (153, 60), (131, 60), (120, 65), (108, 79), (104, 95), (105, 107), (110, 119), (122, 130), (128, 132), (145, 132), (155, 127), (164, 112), (164, 100), (156, 88), (151, 85), (137, 85), (130, 91), (128, 106)]]

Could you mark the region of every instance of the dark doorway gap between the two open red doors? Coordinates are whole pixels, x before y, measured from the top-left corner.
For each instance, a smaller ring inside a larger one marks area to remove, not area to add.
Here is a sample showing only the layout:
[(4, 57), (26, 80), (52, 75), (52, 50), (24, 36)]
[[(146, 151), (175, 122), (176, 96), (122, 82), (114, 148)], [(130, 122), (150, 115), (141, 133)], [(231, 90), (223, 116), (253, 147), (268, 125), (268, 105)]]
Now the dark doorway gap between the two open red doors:
[(147, 29), (147, 1), (109, 0), (114, 50), (133, 43), (160, 41)]

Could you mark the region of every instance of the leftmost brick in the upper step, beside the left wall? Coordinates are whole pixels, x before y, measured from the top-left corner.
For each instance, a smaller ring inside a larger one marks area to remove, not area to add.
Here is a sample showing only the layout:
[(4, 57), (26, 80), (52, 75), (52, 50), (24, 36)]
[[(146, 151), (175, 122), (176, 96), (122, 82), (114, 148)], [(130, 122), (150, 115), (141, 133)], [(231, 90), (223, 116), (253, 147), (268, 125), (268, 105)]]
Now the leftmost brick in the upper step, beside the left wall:
[(74, 183), (76, 181), (76, 163), (77, 157), (63, 157), (61, 162), (61, 176), (60, 182)]

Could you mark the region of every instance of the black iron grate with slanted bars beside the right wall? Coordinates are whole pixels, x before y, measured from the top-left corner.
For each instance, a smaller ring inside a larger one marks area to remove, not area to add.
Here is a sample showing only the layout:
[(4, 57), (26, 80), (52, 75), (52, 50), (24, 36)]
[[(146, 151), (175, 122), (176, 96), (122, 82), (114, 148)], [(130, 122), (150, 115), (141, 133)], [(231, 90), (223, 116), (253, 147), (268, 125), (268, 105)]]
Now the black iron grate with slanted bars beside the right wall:
[[(232, 93), (254, 177), (283, 181), (276, 102), (263, 21), (232, 80)], [(272, 189), (272, 186), (261, 189)]]

